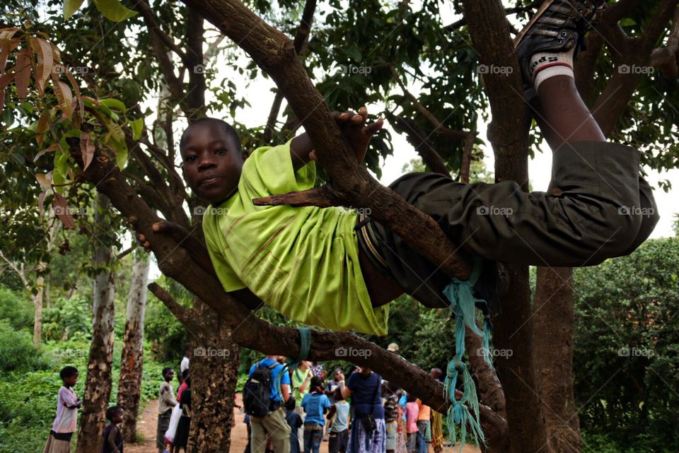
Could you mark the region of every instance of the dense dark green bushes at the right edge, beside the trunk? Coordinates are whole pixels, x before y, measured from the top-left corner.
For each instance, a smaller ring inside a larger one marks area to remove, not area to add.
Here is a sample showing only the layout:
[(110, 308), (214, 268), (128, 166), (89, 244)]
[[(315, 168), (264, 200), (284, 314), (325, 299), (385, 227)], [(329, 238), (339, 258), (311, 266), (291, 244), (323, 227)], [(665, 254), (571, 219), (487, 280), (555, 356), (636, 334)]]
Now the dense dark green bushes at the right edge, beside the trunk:
[(581, 424), (630, 451), (679, 448), (678, 262), (673, 237), (574, 272)]

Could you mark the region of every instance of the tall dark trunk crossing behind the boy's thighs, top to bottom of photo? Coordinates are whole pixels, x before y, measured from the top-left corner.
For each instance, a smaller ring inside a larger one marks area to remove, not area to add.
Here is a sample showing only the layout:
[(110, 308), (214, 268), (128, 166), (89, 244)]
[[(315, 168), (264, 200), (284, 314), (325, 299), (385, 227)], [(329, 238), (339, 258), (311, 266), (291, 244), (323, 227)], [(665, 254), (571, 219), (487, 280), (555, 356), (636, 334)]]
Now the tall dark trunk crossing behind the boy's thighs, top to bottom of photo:
[[(513, 180), (526, 190), (530, 116), (523, 100), (521, 73), (504, 8), (498, 0), (463, 0), (463, 5), (480, 63), (511, 68), (506, 76), (484, 74), (492, 112), (488, 139), (495, 153), (497, 180)], [(511, 451), (537, 453), (546, 445), (547, 437), (535, 392), (528, 267), (506, 264), (505, 271), (506, 292), (500, 304), (501, 313), (493, 314), (493, 339), (497, 349), (512, 352), (511, 357), (498, 361)]]

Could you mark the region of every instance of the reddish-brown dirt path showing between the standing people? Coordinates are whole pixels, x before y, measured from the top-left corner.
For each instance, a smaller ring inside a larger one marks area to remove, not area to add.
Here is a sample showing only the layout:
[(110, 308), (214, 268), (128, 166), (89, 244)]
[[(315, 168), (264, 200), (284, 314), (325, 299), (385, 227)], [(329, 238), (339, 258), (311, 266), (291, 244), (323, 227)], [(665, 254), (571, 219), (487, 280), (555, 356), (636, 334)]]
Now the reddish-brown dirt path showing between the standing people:
[[(240, 405), (240, 394), (238, 394), (238, 405)], [(236, 409), (236, 426), (231, 430), (231, 449), (229, 453), (243, 453), (245, 445), (248, 444), (248, 430), (243, 423), (244, 414)], [(158, 423), (158, 401), (149, 401), (141, 413), (137, 422), (137, 433), (141, 435), (142, 442), (138, 444), (125, 445), (125, 453), (156, 453), (156, 423)], [(443, 450), (443, 453), (459, 453), (459, 447), (450, 447)], [(320, 453), (327, 452), (327, 442), (320, 445)], [(462, 453), (480, 453), (473, 445), (465, 445)]]

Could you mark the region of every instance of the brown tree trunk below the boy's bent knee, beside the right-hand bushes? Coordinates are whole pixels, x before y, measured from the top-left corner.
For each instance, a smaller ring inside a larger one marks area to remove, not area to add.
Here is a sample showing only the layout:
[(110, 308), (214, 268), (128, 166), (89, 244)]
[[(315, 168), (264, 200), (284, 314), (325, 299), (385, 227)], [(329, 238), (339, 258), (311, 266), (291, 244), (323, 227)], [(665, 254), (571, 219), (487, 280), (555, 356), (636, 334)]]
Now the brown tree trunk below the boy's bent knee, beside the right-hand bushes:
[(538, 267), (533, 354), (549, 451), (582, 451), (573, 390), (573, 269)]

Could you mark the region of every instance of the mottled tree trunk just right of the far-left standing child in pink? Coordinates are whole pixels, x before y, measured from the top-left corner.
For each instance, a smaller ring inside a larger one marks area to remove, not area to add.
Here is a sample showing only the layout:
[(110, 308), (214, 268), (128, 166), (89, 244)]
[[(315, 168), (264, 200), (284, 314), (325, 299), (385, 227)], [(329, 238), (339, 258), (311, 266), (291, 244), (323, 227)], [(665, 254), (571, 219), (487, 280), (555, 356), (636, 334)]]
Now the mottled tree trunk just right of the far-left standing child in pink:
[[(108, 211), (110, 201), (102, 194), (97, 195), (101, 211)], [(101, 228), (108, 228), (100, 215), (95, 222)], [(103, 268), (110, 266), (112, 251), (110, 247), (97, 247), (94, 262)], [(114, 322), (115, 274), (109, 269), (100, 271), (94, 278), (93, 327), (90, 358), (85, 377), (83, 396), (83, 415), (78, 432), (76, 453), (95, 453), (100, 451), (102, 435), (106, 424), (105, 411), (111, 394), (111, 365), (113, 359), (113, 322)]]

